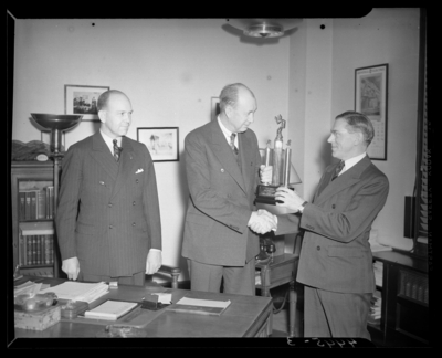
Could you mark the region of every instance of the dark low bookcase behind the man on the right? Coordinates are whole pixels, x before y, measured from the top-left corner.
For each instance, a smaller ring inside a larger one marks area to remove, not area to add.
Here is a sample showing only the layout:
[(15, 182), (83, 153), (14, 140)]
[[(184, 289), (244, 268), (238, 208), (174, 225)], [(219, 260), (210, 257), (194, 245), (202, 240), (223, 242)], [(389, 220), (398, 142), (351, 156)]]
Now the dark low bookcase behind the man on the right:
[(398, 251), (376, 252), (373, 260), (381, 264), (382, 277), (377, 285), (380, 318), (368, 324), (371, 340), (385, 347), (429, 346), (427, 261)]

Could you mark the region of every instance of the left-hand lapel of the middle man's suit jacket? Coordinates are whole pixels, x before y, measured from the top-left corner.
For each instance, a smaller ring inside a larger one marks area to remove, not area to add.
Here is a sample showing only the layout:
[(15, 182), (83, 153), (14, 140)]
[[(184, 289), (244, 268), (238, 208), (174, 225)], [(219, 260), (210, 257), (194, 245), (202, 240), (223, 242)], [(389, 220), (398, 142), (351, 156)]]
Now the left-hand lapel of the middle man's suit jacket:
[(244, 179), (242, 177), (240, 167), (238, 166), (236, 158), (234, 157), (232, 148), (230, 148), (228, 141), (225, 140), (225, 137), (218, 124), (218, 120), (213, 122), (211, 129), (212, 141), (210, 145), (212, 146), (213, 154), (222, 164), (223, 169), (231, 175), (231, 177), (236, 181), (241, 189), (246, 193)]

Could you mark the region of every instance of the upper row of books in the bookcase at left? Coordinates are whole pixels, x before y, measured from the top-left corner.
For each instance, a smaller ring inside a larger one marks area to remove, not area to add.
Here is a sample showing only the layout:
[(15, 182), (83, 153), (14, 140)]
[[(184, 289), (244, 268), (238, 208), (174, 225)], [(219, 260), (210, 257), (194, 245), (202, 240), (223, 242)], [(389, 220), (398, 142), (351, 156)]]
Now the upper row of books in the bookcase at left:
[(19, 220), (54, 218), (54, 187), (19, 191)]

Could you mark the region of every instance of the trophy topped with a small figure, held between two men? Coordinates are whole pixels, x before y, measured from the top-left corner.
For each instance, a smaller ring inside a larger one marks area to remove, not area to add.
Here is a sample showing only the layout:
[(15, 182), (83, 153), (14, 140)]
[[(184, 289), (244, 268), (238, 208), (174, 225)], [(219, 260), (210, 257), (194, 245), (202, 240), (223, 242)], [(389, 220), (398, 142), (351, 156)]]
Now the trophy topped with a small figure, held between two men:
[[(301, 182), (296, 171), (292, 166), (292, 148), (291, 140), (287, 141), (286, 147), (283, 148), (282, 131), (285, 128), (286, 120), (281, 115), (275, 117), (276, 123), (280, 125), (276, 131), (274, 148), (271, 148), (269, 140), (265, 148), (264, 164), (266, 167), (272, 167), (272, 182), (264, 182), (257, 186), (256, 202), (276, 204), (275, 200), (276, 188), (286, 187), (290, 185)], [(291, 171), (295, 181), (291, 182)], [(293, 188), (290, 188), (293, 190)]]

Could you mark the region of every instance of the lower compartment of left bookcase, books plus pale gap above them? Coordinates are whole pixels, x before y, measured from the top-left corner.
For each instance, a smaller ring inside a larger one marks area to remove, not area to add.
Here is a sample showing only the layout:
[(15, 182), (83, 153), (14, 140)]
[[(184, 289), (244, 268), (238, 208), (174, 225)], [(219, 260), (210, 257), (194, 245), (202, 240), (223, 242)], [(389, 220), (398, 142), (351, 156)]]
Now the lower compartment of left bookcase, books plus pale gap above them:
[(53, 264), (53, 221), (21, 222), (19, 229), (20, 266)]

